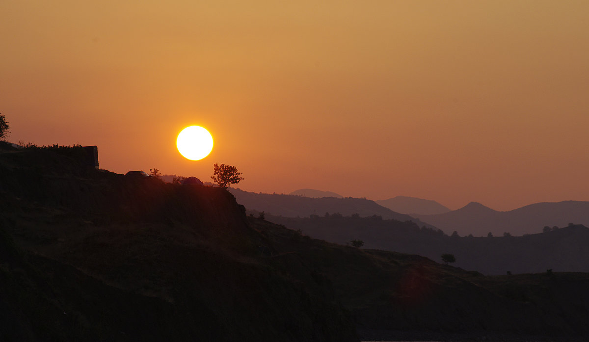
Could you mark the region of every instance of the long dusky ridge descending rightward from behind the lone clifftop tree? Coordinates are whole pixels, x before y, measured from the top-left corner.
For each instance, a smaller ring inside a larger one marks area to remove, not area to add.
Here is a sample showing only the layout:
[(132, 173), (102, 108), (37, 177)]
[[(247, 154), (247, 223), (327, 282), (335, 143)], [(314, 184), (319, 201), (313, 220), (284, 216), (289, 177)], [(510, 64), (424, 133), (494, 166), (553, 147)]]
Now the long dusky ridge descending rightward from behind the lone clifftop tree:
[(418, 221), (409, 215), (399, 214), (365, 198), (309, 198), (294, 195), (256, 194), (234, 188), (228, 190), (235, 196), (237, 202), (244, 205), (247, 210), (264, 211), (272, 213), (272, 215), (309, 217), (309, 215), (325, 215), (326, 212), (331, 214), (339, 212), (342, 215), (359, 214), (362, 217), (379, 215), (383, 218), (395, 218), (395, 220), (401, 221)]

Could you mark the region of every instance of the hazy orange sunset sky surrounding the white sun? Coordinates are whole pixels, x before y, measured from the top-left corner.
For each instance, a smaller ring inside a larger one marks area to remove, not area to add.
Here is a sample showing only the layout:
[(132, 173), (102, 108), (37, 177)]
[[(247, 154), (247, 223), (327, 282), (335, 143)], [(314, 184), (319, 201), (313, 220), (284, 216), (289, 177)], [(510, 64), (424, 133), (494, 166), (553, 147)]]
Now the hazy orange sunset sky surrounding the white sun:
[[(256, 192), (589, 201), (589, 1), (0, 1), (10, 141)], [(176, 136), (202, 125), (213, 152)]]

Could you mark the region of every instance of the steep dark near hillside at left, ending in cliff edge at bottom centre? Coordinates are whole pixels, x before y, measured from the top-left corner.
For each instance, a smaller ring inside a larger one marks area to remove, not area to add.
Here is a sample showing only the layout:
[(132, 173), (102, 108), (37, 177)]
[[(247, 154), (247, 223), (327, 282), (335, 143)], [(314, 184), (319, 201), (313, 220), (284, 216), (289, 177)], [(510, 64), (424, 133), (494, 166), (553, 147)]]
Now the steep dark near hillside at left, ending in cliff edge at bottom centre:
[(358, 341), (331, 288), (267, 264), (229, 192), (73, 152), (0, 153), (0, 340)]

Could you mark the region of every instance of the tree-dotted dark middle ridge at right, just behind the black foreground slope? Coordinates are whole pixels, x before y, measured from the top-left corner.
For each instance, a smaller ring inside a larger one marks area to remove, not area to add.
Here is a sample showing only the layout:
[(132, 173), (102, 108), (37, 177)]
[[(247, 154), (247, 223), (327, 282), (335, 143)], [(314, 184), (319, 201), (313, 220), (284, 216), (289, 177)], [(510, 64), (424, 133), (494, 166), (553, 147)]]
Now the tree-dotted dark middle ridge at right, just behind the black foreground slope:
[(419, 254), (433, 260), (454, 254), (456, 266), (484, 274), (589, 272), (589, 229), (583, 225), (524, 237), (449, 237), (412, 222), (379, 218), (285, 218), (266, 215), (274, 223), (332, 243), (362, 240), (366, 248)]

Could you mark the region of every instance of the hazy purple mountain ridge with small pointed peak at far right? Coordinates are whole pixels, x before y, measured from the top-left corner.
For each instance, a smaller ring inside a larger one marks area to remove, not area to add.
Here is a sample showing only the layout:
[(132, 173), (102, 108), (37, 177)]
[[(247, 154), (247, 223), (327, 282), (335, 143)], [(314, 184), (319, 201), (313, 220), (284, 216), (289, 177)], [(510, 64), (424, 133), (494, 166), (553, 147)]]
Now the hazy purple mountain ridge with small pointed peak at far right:
[(464, 208), (438, 215), (415, 215), (420, 220), (451, 234), (475, 236), (540, 233), (545, 226), (564, 227), (568, 223), (589, 225), (589, 202), (562, 201), (526, 205), (511, 211), (495, 211), (471, 202)]

